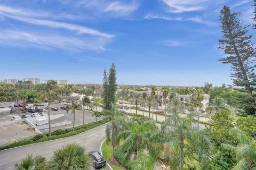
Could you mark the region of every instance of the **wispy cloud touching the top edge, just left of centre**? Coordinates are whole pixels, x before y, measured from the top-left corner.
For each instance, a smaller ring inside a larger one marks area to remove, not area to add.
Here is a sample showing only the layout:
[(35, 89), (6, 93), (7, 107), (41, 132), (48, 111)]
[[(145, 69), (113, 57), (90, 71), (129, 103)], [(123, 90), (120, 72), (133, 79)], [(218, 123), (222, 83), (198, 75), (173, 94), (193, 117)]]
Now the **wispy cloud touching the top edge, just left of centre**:
[(124, 3), (123, 1), (104, 1), (104, 0), (81, 0), (77, 6), (83, 6), (100, 15), (109, 14), (112, 17), (128, 16), (139, 7), (138, 1)]

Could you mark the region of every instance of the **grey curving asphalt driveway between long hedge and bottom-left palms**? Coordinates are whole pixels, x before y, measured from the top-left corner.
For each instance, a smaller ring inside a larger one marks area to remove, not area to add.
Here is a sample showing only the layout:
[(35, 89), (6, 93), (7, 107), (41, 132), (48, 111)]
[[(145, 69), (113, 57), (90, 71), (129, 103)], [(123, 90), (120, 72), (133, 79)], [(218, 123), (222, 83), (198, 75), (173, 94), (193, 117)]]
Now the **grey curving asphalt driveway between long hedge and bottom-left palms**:
[[(42, 155), (48, 160), (51, 158), (53, 151), (61, 148), (68, 143), (77, 143), (86, 148), (86, 151), (99, 151), (101, 143), (105, 140), (106, 124), (91, 129), (84, 133), (59, 140), (53, 140), (35, 145), (23, 146), (0, 151), (0, 169), (11, 170), (13, 164), (20, 162), (28, 154)], [(93, 168), (92, 168), (93, 169)]]

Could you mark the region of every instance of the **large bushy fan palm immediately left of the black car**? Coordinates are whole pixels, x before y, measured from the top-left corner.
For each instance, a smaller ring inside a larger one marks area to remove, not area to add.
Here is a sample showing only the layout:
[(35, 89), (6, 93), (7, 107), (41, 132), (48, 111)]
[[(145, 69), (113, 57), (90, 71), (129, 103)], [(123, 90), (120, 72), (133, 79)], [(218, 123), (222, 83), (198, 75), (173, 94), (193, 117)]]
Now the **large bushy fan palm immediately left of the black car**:
[(88, 170), (91, 166), (91, 159), (87, 156), (84, 147), (71, 143), (55, 150), (49, 164), (49, 169), (52, 170)]

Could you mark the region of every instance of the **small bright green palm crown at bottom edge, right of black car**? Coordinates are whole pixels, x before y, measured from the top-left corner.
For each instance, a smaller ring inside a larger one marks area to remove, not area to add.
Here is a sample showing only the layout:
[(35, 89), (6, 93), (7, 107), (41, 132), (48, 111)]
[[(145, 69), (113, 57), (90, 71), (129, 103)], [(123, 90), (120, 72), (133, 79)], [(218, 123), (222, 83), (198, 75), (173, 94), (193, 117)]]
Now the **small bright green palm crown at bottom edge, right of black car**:
[(141, 150), (138, 154), (138, 158), (136, 160), (135, 170), (147, 169), (153, 170), (154, 169), (154, 158), (151, 156), (147, 149)]

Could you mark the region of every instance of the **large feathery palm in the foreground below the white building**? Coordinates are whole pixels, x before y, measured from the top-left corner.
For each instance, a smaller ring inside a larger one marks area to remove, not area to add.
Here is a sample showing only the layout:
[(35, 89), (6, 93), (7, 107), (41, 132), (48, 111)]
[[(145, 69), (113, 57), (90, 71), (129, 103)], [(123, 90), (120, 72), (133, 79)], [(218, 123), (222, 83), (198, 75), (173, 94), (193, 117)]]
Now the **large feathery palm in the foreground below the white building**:
[(193, 116), (180, 117), (177, 109), (167, 109), (172, 111), (171, 116), (164, 121), (162, 131), (170, 138), (172, 146), (171, 167), (183, 169), (184, 150), (188, 146), (197, 154), (199, 162), (206, 162), (212, 149), (210, 136), (203, 130), (193, 126)]

